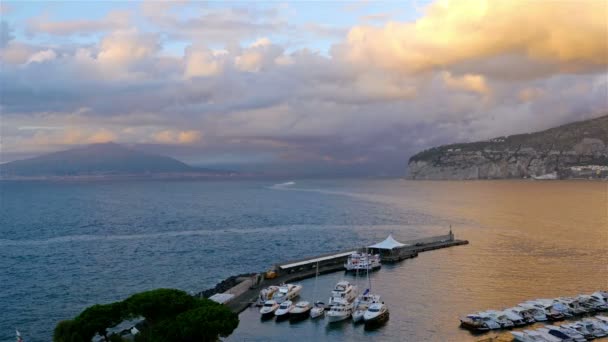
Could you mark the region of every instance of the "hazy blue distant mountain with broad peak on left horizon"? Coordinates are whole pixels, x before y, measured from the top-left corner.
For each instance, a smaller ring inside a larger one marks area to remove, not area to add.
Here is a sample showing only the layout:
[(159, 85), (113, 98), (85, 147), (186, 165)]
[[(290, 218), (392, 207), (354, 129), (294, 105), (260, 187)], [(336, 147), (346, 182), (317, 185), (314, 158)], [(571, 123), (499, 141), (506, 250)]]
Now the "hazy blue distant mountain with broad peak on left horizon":
[(226, 171), (195, 168), (170, 157), (111, 142), (0, 164), (0, 176), (4, 178), (213, 173)]

